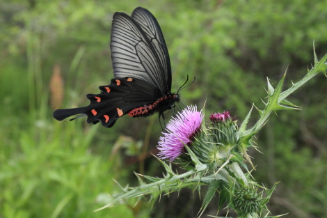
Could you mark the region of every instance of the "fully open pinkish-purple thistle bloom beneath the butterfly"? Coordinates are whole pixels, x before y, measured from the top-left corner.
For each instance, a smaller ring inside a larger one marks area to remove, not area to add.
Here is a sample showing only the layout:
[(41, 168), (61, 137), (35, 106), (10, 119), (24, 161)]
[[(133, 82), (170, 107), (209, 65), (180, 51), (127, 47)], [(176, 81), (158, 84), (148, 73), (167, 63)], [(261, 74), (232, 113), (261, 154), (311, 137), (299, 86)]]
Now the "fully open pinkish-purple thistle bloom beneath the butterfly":
[(192, 143), (195, 135), (200, 132), (202, 120), (202, 110), (197, 111), (196, 106), (188, 106), (178, 112), (177, 116), (169, 121), (166, 132), (162, 132), (163, 137), (159, 138), (158, 157), (172, 162), (182, 154), (185, 151), (184, 144)]

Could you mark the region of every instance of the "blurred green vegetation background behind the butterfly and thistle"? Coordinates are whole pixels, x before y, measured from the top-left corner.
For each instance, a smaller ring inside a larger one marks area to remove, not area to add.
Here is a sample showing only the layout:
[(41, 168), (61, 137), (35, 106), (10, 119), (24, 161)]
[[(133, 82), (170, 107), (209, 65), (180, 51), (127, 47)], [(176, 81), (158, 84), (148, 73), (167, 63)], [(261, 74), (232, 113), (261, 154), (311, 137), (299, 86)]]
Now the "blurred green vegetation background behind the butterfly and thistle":
[[(161, 25), (172, 91), (195, 76), (182, 102), (207, 101), (207, 119), (229, 109), (243, 120), (253, 102), (263, 107), (266, 77), (276, 84), (288, 67), (289, 86), (310, 68), (313, 41), (318, 57), (327, 52), (327, 1), (1, 1), (0, 217), (196, 217), (201, 200), (188, 189), (152, 210), (145, 199), (93, 212), (119, 192), (113, 179), (137, 185), (133, 171), (161, 176), (151, 155), (157, 115), (125, 116), (111, 129), (51, 115), (86, 106), (87, 93), (110, 83), (113, 13), (137, 6)], [(274, 215), (327, 217), (326, 91), (323, 75), (312, 79), (289, 98), (303, 110), (273, 114), (257, 135), (262, 153), (250, 150), (257, 182), (280, 181)], [(217, 201), (202, 217), (216, 215)]]

